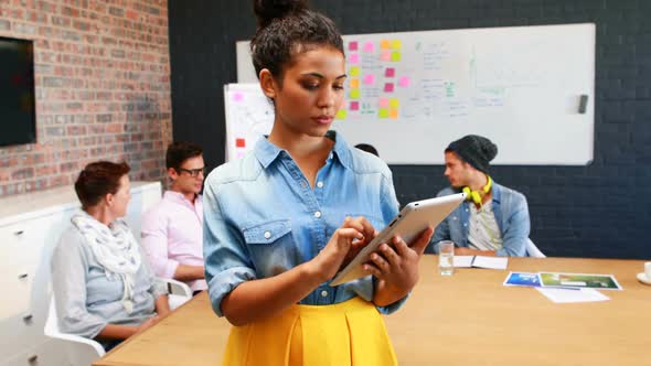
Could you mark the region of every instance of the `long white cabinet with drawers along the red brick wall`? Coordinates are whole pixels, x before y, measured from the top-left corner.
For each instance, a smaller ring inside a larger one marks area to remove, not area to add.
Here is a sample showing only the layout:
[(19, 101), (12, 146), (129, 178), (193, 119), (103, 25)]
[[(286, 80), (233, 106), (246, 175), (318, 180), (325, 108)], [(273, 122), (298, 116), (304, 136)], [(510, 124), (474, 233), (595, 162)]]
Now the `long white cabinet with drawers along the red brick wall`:
[[(158, 182), (132, 182), (126, 220), (140, 237), (142, 213), (160, 201)], [(50, 258), (79, 209), (72, 187), (0, 198), (0, 365), (66, 365), (43, 335), (52, 287)]]

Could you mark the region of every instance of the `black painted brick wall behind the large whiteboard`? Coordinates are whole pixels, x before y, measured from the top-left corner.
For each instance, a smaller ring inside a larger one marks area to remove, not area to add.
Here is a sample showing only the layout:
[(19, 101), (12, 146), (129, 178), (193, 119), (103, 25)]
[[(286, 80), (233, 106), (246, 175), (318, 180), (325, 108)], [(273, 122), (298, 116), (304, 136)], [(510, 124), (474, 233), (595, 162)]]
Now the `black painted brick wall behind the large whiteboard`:
[[(531, 237), (546, 255), (651, 258), (651, 1), (311, 3), (343, 34), (596, 23), (594, 162), (495, 166), (493, 176), (527, 196)], [(252, 6), (247, 0), (169, 0), (169, 20), (174, 140), (201, 143), (207, 165), (215, 166), (224, 161), (223, 85), (237, 78), (235, 41), (255, 31)], [(447, 184), (442, 166), (392, 170), (402, 203), (430, 197)]]

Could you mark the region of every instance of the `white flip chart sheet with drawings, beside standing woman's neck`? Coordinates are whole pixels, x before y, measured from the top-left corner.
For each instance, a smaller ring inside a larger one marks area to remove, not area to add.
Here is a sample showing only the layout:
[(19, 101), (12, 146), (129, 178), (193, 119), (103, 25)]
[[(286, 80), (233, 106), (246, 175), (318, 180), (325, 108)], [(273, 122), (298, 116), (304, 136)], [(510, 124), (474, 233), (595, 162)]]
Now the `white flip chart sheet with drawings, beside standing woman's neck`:
[(226, 161), (238, 159), (256, 141), (271, 132), (274, 108), (258, 84), (224, 86), (226, 109)]

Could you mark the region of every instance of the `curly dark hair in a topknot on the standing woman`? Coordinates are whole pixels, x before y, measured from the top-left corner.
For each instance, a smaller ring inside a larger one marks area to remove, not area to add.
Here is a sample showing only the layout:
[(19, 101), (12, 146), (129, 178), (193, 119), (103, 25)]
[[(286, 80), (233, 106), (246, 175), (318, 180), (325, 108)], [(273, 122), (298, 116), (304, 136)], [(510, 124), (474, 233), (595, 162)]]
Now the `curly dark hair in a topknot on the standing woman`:
[(298, 53), (314, 46), (343, 52), (343, 40), (334, 22), (308, 8), (306, 0), (254, 0), (258, 29), (250, 41), (256, 75), (269, 69), (281, 85), (285, 66)]

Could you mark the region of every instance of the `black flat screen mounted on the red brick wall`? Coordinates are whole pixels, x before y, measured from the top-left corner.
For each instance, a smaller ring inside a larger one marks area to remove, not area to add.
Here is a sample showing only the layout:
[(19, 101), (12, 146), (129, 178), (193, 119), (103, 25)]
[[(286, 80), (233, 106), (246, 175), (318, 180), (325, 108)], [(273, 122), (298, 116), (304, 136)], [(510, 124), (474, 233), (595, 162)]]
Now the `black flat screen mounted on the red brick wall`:
[(36, 142), (34, 44), (0, 36), (0, 147)]

